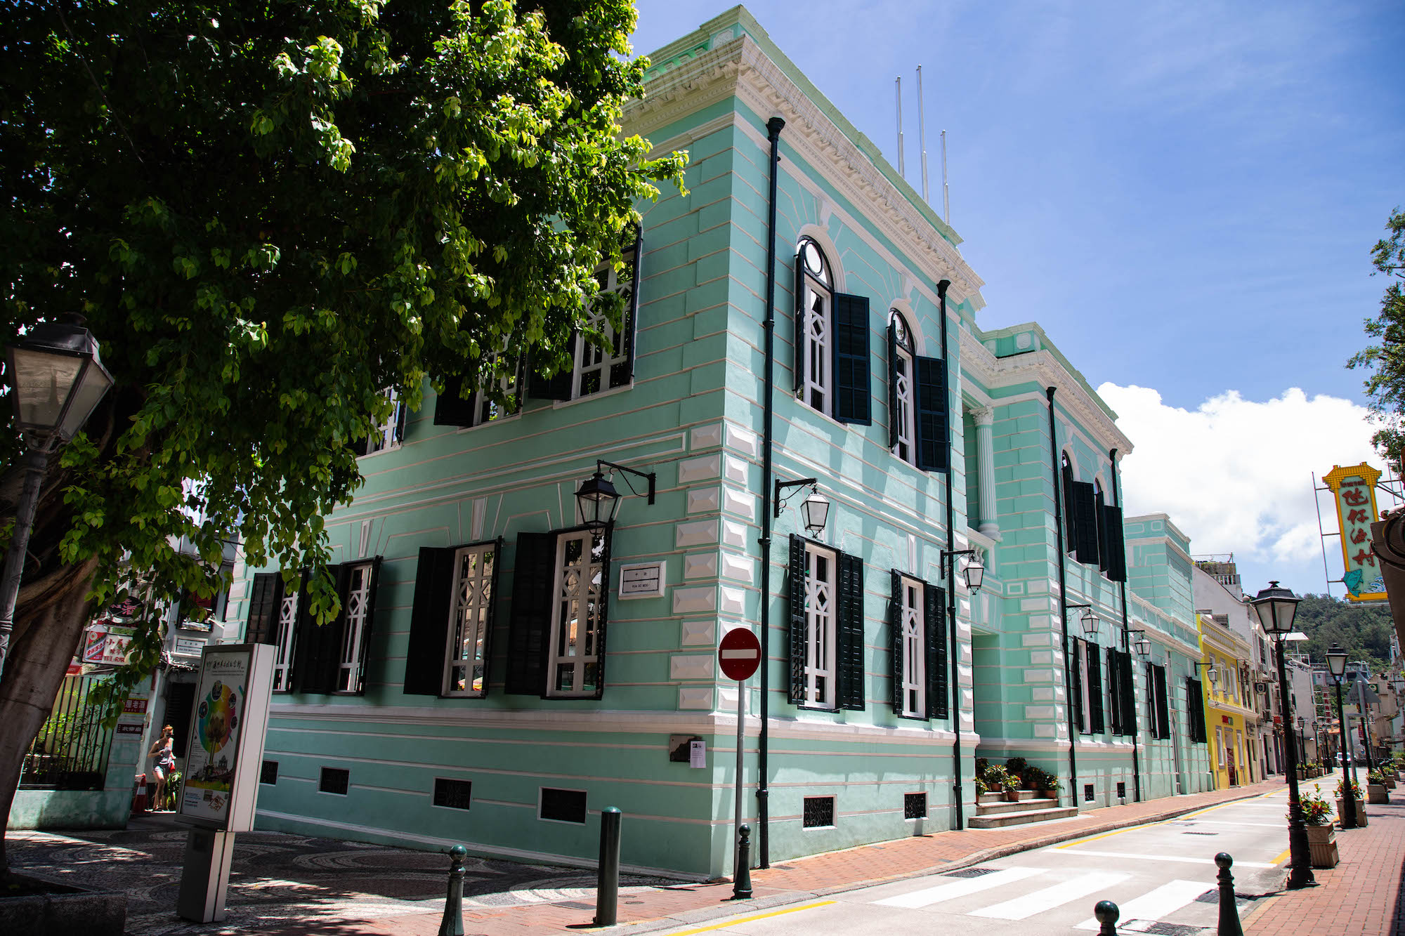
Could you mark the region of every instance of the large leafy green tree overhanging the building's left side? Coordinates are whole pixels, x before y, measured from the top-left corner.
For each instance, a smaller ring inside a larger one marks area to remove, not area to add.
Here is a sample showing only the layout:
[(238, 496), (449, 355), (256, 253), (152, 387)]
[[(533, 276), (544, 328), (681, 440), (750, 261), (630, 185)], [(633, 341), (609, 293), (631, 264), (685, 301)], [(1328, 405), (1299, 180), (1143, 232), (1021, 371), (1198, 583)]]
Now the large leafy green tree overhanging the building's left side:
[[(620, 134), (634, 22), (627, 0), (6, 6), (6, 340), (81, 313), (117, 386), (41, 495), (0, 814), (125, 569), (148, 616), (124, 686), (157, 662), (153, 609), (223, 585), (232, 530), (253, 565), (311, 566), (326, 620), (320, 517), (361, 482), (348, 441), (388, 416), (382, 391), (496, 394), (518, 356), (551, 374), (573, 330), (600, 340), (593, 273), (686, 162)], [(10, 517), (20, 454), (11, 426)]]

